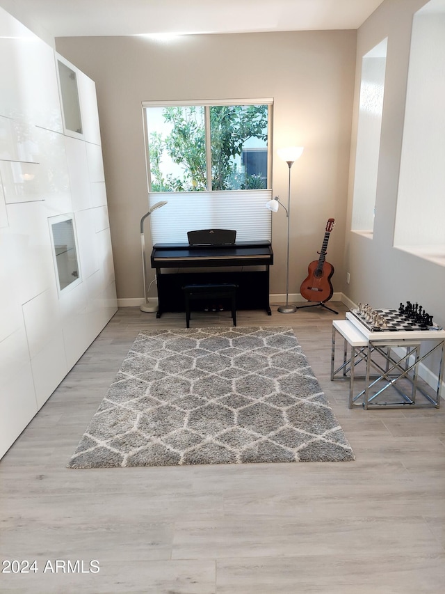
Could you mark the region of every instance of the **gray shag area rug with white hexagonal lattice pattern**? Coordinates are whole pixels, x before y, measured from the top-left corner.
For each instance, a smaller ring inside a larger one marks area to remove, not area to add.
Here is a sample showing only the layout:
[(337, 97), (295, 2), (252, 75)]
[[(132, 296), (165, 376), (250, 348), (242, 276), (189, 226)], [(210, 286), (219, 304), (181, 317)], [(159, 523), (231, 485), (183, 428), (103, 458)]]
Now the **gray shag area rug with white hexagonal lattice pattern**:
[(141, 331), (68, 467), (354, 460), (293, 330)]

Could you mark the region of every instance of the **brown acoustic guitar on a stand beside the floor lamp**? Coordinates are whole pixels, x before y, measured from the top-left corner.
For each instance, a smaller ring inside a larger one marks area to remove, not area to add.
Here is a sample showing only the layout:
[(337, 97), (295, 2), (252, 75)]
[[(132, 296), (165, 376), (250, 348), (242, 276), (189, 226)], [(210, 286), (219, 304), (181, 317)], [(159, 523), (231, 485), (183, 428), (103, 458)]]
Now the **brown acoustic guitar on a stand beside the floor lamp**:
[(328, 301), (333, 293), (331, 278), (334, 274), (334, 267), (329, 262), (326, 262), (326, 249), (329, 236), (334, 228), (334, 219), (328, 219), (323, 239), (323, 245), (318, 260), (314, 260), (309, 264), (307, 278), (302, 282), (300, 287), (300, 294), (307, 299), (307, 301), (316, 301), (324, 303)]

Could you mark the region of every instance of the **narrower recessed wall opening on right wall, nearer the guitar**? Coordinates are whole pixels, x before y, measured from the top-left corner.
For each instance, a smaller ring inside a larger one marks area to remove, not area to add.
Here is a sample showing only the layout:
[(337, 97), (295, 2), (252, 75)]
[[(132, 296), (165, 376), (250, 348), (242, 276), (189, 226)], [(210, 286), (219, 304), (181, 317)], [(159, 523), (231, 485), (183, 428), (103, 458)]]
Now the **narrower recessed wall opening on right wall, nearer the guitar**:
[(377, 191), (387, 39), (362, 58), (352, 230), (372, 237)]

